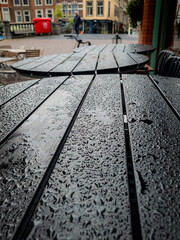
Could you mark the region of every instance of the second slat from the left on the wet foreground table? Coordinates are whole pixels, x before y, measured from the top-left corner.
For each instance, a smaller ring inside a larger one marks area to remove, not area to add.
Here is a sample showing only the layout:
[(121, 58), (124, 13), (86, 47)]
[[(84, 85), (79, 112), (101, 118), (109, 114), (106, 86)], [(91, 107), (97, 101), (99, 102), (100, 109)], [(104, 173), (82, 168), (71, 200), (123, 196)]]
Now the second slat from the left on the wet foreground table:
[(3, 105), (0, 109), (0, 142), (64, 80), (65, 77), (44, 78)]

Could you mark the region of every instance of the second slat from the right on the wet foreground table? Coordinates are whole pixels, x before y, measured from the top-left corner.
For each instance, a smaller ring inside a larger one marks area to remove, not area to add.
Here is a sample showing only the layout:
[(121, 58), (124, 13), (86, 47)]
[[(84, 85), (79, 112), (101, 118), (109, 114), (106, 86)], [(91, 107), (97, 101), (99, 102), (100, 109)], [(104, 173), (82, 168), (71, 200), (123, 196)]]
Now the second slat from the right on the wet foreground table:
[(143, 239), (178, 239), (180, 122), (148, 77), (122, 79)]

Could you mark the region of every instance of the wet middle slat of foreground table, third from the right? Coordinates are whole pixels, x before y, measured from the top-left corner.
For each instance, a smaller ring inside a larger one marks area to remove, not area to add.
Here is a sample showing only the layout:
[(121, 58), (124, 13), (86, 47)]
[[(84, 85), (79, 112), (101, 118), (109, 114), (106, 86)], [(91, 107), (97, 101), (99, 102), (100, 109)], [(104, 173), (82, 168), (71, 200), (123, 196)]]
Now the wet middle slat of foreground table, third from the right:
[(97, 76), (28, 239), (132, 239), (124, 144), (119, 76)]

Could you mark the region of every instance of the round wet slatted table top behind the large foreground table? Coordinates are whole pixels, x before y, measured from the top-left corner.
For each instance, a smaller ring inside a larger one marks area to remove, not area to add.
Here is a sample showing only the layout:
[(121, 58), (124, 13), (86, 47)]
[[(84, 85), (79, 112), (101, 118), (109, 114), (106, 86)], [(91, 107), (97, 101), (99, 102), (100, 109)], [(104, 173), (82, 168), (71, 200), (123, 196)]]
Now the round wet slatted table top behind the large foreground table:
[(29, 58), (12, 67), (21, 73), (39, 76), (133, 73), (148, 60), (147, 56), (137, 54), (132, 45), (125, 48), (124, 44), (109, 44), (78, 48), (73, 54)]

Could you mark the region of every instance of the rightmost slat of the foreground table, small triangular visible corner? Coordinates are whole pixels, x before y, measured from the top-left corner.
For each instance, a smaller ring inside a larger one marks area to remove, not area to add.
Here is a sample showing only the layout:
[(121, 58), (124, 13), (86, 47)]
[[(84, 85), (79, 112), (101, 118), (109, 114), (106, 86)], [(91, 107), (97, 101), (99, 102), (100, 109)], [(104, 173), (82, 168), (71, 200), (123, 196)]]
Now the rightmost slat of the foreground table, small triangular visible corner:
[(165, 97), (180, 114), (180, 79), (163, 76), (153, 76)]

